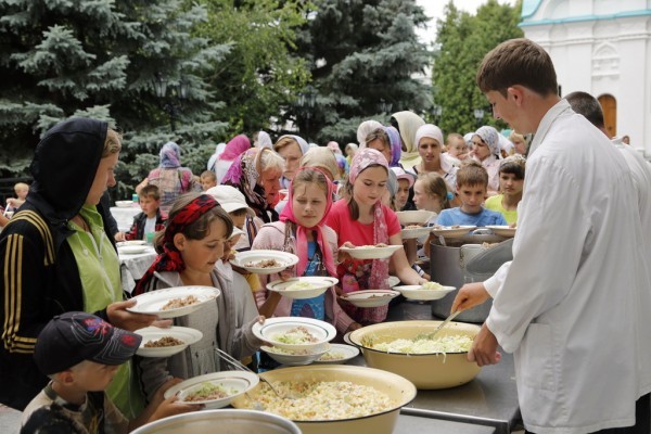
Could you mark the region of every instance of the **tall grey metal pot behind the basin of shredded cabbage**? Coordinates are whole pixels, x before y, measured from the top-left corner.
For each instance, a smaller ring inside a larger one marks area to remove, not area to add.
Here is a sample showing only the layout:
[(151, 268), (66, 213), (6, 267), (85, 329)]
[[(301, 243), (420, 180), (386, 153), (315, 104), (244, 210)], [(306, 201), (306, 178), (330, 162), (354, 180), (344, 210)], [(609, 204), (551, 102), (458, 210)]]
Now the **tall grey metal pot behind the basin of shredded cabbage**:
[[(472, 237), (472, 235), (469, 235)], [(450, 292), (445, 297), (432, 302), (432, 314), (438, 318), (447, 318), (452, 308), (452, 302), (459, 292), (459, 289), (465, 283), (483, 282), (493, 276), (493, 272), (486, 275), (470, 275), (465, 270), (468, 263), (477, 254), (484, 252), (487, 247), (482, 244), (464, 244), (460, 247), (441, 245), (435, 241), (430, 244), (430, 276), (432, 281), (443, 285), (455, 286), (457, 290)], [(475, 306), (472, 309), (464, 310), (457, 317), (458, 321), (463, 322), (484, 322), (493, 302)]]

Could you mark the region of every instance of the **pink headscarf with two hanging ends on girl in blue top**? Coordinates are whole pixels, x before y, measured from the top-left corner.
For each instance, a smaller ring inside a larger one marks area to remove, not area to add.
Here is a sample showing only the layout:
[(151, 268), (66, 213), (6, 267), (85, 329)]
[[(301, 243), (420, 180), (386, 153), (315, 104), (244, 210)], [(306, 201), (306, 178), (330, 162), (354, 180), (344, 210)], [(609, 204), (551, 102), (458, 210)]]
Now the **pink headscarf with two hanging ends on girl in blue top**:
[[(290, 183), (289, 188), (289, 197), (288, 204), (283, 208), (280, 214), (280, 221), (292, 221), (296, 225), (296, 250), (298, 253), (298, 264), (296, 266), (296, 276), (303, 276), (305, 272), (305, 268), (307, 267), (307, 231), (316, 230), (317, 232), (317, 244), (319, 245), (319, 250), (321, 251), (321, 255), (323, 255), (323, 265), (326, 269), (330, 273), (330, 276), (336, 276), (336, 266), (334, 265), (334, 257), (332, 256), (332, 250), (330, 245), (328, 245), (328, 240), (326, 239), (326, 234), (323, 233), (323, 226), (326, 226), (326, 216), (330, 212), (332, 207), (332, 195), (334, 192), (334, 184), (330, 182), (328, 176), (323, 173), (323, 170), (317, 167), (301, 167), (296, 175), (298, 175), (303, 170), (314, 170), (323, 175), (326, 178), (326, 182), (328, 186), (328, 191), (326, 193), (326, 213), (323, 213), (323, 217), (317, 226), (314, 228), (305, 228), (296, 221), (296, 217), (294, 216), (294, 206), (293, 206), (293, 197), (294, 197), (294, 181)], [(294, 177), (296, 179), (296, 177)]]

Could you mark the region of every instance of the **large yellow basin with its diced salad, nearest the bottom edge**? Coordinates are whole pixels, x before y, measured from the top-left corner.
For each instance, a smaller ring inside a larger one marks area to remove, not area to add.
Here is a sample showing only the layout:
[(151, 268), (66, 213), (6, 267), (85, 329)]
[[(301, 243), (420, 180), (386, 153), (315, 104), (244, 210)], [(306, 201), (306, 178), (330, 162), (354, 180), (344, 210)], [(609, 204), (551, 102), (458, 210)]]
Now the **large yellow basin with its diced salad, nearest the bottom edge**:
[(416, 397), (403, 376), (357, 366), (309, 366), (260, 374), (280, 397), (260, 382), (235, 398), (235, 408), (264, 408), (293, 420), (305, 434), (390, 434), (400, 408)]

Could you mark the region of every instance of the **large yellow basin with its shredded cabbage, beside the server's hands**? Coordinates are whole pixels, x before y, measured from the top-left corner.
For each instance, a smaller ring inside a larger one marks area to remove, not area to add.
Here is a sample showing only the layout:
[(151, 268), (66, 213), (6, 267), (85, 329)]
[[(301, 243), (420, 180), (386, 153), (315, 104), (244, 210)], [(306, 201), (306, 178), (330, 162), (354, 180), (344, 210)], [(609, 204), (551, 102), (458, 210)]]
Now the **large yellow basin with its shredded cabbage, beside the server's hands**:
[[(468, 361), (468, 349), (480, 327), (450, 322), (433, 342), (427, 335), (442, 321), (383, 322), (355, 330), (352, 344), (361, 348), (367, 366), (394, 372), (418, 388), (448, 388), (474, 379), (481, 368)], [(445, 350), (445, 352), (444, 352)]]

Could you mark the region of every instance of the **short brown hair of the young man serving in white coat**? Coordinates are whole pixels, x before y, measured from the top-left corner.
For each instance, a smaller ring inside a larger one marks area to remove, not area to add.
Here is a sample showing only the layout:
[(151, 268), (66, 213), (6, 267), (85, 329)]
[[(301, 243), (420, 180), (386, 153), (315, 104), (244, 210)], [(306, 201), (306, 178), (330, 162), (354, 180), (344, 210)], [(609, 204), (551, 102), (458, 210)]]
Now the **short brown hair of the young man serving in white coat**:
[(525, 38), (507, 40), (484, 56), (477, 71), (477, 86), (482, 92), (500, 92), (514, 85), (524, 86), (547, 97), (559, 91), (551, 58), (536, 42)]

